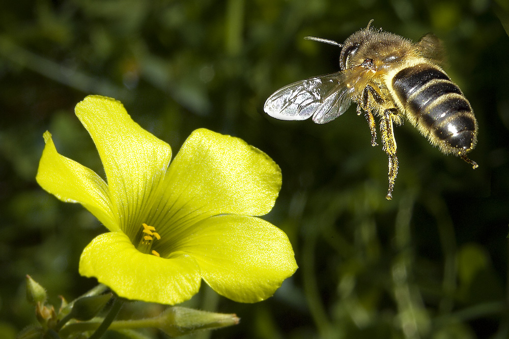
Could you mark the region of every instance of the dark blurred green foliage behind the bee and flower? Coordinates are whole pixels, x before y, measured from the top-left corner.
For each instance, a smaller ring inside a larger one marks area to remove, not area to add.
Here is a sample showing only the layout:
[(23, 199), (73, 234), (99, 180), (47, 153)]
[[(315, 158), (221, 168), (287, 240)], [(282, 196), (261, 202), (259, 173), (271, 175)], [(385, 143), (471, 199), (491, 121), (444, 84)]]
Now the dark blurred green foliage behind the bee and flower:
[[(204, 127), (244, 139), (281, 167), (282, 190), (265, 219), (289, 235), (299, 269), (257, 304), (203, 286), (186, 306), (237, 313), (241, 323), (193, 337), (509, 337), (504, 3), (21, 0), (1, 7), (0, 337), (35, 321), (25, 274), (56, 305), (57, 295), (71, 300), (95, 285), (77, 273), (78, 259), (105, 229), (35, 181), (46, 130), (61, 153), (102, 173), (73, 113), (89, 94), (121, 100), (174, 153)], [(407, 123), (395, 129), (400, 173), (386, 201), (387, 157), (371, 147), (354, 107), (323, 126), (263, 113), (281, 86), (338, 69), (337, 48), (304, 36), (342, 42), (370, 19), (414, 41), (427, 32), (443, 40), (445, 70), (479, 122), (470, 153), (478, 169), (442, 155)], [(129, 307), (138, 317), (158, 306)]]

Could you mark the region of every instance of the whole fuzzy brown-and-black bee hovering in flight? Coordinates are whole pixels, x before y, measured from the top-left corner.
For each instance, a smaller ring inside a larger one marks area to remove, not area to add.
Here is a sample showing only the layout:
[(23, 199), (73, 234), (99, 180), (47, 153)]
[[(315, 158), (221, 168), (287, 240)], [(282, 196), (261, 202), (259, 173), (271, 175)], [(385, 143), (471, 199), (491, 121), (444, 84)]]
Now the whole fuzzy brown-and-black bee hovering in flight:
[(398, 175), (393, 126), (404, 118), (445, 154), (467, 157), (477, 141), (477, 120), (461, 89), (438, 66), (443, 48), (429, 33), (414, 43), (402, 36), (367, 27), (352, 34), (343, 44), (332, 40), (304, 39), (341, 48), (340, 71), (297, 81), (272, 94), (264, 111), (281, 120), (313, 118), (326, 124), (345, 113), (353, 102), (357, 115), (364, 113), (377, 146), (375, 116), (379, 119), (382, 149), (387, 153), (392, 198)]

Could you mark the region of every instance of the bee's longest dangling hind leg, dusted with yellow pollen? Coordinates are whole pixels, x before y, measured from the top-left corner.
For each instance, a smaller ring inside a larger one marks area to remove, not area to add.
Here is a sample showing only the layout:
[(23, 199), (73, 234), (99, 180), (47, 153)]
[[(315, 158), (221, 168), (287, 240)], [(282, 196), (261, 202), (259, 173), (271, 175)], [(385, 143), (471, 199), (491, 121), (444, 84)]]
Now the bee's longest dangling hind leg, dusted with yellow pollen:
[(396, 140), (394, 139), (394, 130), (392, 124), (393, 109), (386, 109), (380, 121), (380, 134), (382, 139), (383, 150), (389, 156), (389, 188), (387, 189), (387, 200), (392, 199), (392, 191), (394, 189), (394, 181), (398, 175), (398, 157), (396, 156)]

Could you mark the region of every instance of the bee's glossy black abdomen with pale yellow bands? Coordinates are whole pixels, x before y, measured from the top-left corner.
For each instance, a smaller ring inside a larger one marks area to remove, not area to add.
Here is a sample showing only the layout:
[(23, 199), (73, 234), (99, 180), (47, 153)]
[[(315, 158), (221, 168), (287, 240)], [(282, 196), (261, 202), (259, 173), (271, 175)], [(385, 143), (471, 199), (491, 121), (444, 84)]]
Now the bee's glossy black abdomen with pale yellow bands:
[(421, 132), (446, 152), (473, 148), (477, 124), (460, 88), (439, 68), (418, 64), (392, 78), (392, 87)]

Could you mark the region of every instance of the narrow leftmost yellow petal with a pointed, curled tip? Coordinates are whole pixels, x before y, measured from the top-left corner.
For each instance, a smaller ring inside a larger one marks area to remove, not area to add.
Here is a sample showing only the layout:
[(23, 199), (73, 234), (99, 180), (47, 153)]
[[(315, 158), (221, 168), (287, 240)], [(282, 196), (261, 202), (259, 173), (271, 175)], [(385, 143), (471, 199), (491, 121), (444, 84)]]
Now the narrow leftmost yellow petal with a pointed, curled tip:
[(40, 186), (62, 201), (79, 202), (110, 231), (119, 230), (104, 180), (91, 169), (61, 156), (49, 132), (44, 133), (44, 140), (46, 146), (36, 176)]

